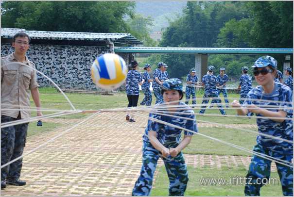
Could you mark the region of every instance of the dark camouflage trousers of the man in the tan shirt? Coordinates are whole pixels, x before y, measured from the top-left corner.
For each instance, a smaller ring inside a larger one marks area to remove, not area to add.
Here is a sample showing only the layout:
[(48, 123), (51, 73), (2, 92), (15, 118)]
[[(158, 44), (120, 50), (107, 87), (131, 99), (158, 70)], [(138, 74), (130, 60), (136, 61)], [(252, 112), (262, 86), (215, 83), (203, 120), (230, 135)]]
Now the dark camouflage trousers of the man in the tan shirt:
[[(20, 118), (1, 115), (1, 123)], [(1, 129), (1, 165), (21, 156), (25, 147), (29, 123), (19, 124)], [(1, 168), (1, 180), (16, 180), (20, 177), (22, 159)]]

